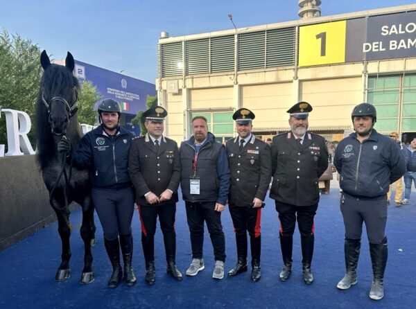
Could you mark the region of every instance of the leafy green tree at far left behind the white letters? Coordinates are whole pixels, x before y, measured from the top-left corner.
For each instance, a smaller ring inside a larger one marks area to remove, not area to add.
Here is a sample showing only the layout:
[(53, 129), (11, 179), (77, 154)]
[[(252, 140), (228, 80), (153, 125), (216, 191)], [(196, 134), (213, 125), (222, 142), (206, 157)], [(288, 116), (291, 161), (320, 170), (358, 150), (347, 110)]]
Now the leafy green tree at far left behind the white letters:
[[(34, 145), (35, 104), (40, 83), (40, 48), (30, 39), (0, 33), (0, 106), (17, 109), (31, 117), (32, 130), (28, 134)], [(7, 144), (6, 117), (0, 118), (0, 144)]]

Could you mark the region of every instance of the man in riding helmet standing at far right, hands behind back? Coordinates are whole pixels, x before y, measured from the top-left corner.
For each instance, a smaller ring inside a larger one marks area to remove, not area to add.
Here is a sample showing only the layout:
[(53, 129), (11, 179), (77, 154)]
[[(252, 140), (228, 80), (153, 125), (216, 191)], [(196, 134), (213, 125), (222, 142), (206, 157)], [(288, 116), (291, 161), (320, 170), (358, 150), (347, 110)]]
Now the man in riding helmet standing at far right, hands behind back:
[(406, 172), (406, 164), (397, 143), (374, 130), (376, 108), (368, 103), (354, 107), (355, 133), (340, 141), (333, 164), (340, 173), (343, 194), (340, 209), (345, 225), (345, 267), (347, 272), (336, 287), (347, 290), (357, 283), (356, 267), (361, 248), (363, 222), (370, 242), (373, 280), (370, 299), (384, 296), (383, 278), (387, 263), (387, 192), (389, 185)]

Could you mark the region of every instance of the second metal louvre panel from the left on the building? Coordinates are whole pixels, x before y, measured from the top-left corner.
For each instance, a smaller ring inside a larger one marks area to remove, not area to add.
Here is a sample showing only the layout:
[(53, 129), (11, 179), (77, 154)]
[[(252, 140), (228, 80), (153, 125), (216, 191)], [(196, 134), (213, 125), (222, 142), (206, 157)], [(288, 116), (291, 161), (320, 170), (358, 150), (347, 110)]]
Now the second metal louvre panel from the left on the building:
[(187, 75), (209, 73), (209, 39), (185, 43)]

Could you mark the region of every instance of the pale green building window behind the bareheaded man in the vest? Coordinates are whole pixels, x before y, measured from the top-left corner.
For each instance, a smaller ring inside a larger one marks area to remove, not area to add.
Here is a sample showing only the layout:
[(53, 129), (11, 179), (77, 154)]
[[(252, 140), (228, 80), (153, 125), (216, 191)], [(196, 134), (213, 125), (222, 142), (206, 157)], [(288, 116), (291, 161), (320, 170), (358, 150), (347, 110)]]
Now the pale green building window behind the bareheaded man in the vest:
[(195, 116), (204, 116), (208, 121), (208, 131), (215, 135), (216, 141), (223, 143), (234, 136), (234, 112), (193, 112), (191, 120)]

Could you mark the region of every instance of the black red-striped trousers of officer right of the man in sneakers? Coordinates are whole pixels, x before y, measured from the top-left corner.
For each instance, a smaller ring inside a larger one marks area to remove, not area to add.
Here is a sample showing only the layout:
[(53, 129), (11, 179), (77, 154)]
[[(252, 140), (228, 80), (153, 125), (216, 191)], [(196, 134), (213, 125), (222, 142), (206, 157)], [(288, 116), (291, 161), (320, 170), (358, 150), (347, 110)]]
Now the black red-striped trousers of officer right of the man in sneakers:
[(250, 235), (250, 249), (252, 263), (260, 262), (261, 254), (261, 208), (229, 205), (234, 233), (236, 233), (237, 258), (239, 261), (247, 261), (247, 232)]

